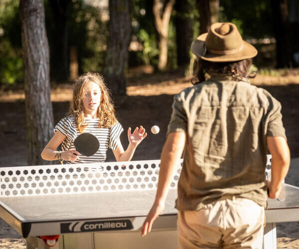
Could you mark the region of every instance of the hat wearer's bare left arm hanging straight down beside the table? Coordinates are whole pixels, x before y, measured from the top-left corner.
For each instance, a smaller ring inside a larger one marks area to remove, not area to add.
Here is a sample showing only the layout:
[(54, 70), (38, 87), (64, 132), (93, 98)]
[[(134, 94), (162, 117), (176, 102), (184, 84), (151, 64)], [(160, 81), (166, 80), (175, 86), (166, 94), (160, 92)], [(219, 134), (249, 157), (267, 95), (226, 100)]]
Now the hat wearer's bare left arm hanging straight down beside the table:
[(182, 155), (186, 142), (185, 132), (171, 132), (161, 152), (160, 172), (156, 197), (143, 224), (141, 235), (145, 236), (150, 232), (152, 223), (163, 211), (168, 189), (175, 172), (178, 160)]

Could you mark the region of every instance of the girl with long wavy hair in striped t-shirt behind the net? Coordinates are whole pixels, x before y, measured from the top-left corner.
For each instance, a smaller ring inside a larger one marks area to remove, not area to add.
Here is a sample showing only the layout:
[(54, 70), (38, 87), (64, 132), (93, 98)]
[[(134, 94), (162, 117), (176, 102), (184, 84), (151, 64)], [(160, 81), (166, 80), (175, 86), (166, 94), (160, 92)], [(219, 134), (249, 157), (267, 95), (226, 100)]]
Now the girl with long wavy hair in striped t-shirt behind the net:
[[(138, 144), (147, 136), (145, 128), (128, 129), (129, 146), (126, 151), (120, 141), (122, 125), (116, 120), (108, 88), (101, 75), (87, 73), (75, 80), (70, 114), (54, 128), (55, 134), (41, 152), (44, 160), (66, 163), (104, 162), (108, 147), (117, 161), (130, 161)], [(94, 134), (100, 141), (93, 156), (81, 155), (74, 147), (75, 138), (83, 132)], [(62, 151), (56, 151), (61, 144)]]

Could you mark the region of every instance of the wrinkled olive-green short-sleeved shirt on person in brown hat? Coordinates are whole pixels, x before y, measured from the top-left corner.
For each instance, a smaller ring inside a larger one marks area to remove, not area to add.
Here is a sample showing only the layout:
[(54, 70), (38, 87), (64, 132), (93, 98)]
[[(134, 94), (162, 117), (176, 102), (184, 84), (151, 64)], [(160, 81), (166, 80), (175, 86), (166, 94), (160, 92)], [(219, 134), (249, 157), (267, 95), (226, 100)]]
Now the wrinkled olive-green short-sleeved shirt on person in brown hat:
[(176, 208), (223, 195), (267, 205), (267, 136), (286, 137), (281, 104), (243, 78), (217, 75), (175, 95), (167, 134), (187, 134)]

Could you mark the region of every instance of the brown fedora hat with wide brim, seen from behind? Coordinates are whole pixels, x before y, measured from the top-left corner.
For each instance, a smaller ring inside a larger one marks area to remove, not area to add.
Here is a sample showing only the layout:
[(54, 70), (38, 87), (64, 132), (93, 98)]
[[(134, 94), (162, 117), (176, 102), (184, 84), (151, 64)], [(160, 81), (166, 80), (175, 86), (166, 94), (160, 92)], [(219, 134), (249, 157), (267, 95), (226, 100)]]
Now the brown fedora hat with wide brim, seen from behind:
[(217, 22), (208, 33), (201, 34), (191, 44), (191, 51), (199, 58), (212, 62), (230, 62), (253, 58), (258, 51), (242, 39), (231, 22)]

